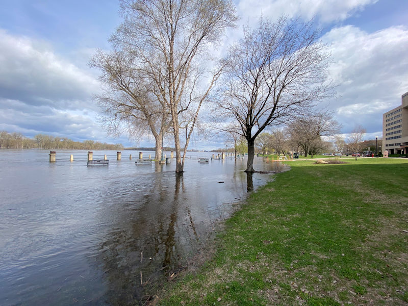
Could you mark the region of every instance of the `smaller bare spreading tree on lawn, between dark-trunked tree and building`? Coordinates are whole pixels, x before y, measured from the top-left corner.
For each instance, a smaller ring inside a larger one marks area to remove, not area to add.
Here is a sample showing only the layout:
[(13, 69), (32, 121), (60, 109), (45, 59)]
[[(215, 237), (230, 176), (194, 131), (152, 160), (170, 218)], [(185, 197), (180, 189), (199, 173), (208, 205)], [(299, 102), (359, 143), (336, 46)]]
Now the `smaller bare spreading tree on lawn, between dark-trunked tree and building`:
[(340, 132), (340, 127), (341, 125), (333, 120), (333, 114), (327, 111), (299, 116), (289, 124), (291, 137), (303, 148), (305, 157), (316, 139), (321, 136), (334, 136)]

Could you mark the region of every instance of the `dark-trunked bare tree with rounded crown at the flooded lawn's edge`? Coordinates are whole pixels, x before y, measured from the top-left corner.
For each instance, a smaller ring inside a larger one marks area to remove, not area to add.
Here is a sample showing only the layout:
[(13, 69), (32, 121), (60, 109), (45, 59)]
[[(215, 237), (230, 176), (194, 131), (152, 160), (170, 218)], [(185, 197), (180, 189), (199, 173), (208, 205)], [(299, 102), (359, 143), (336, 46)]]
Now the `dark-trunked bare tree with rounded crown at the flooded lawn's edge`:
[(237, 120), (247, 140), (246, 172), (254, 171), (254, 142), (267, 126), (331, 95), (329, 54), (318, 39), (313, 20), (261, 18), (258, 28), (245, 27), (244, 38), (230, 48), (215, 102), (219, 117)]

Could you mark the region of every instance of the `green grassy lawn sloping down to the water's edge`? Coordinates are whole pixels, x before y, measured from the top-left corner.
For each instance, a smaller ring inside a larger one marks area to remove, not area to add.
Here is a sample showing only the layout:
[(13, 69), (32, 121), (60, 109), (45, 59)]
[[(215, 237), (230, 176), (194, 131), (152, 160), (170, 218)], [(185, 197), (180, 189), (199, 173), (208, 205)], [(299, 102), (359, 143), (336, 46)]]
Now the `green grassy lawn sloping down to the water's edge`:
[(408, 305), (408, 160), (290, 162), (161, 305)]

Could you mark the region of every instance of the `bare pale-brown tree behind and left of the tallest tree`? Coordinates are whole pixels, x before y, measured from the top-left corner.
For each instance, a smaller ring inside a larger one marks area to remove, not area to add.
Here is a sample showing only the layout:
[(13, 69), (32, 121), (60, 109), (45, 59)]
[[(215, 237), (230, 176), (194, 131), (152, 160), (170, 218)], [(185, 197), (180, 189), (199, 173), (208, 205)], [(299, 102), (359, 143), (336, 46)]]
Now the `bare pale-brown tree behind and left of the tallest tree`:
[(155, 159), (160, 159), (170, 116), (138, 63), (138, 58), (126, 50), (114, 49), (109, 53), (97, 50), (90, 66), (101, 70), (99, 80), (104, 84), (104, 92), (96, 95), (96, 100), (103, 107), (102, 118), (110, 135), (125, 132), (138, 140), (152, 135), (156, 142)]

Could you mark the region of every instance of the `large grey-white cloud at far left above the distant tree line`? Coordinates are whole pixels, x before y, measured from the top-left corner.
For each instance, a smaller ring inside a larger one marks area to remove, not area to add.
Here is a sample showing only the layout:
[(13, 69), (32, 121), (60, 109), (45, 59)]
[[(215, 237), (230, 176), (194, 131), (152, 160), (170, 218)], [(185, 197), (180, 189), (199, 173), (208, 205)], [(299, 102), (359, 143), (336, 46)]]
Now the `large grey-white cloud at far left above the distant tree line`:
[(0, 50), (2, 98), (56, 109), (78, 109), (99, 90), (95, 78), (56, 56), (44, 42), (0, 30)]

